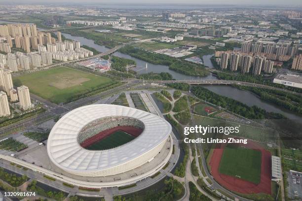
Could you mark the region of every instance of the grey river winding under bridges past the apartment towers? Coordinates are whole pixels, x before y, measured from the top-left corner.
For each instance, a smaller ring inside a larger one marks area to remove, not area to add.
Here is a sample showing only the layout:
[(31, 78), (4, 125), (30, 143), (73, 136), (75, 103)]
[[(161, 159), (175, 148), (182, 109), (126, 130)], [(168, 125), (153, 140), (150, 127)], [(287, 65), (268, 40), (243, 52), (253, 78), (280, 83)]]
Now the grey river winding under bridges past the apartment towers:
[[(73, 40), (77, 40), (80, 41), (81, 44), (83, 45), (87, 45), (89, 47), (93, 47), (95, 48), (97, 51), (99, 52), (106, 52), (107, 50), (109, 50), (109, 48), (103, 46), (103, 45), (98, 45), (95, 44), (93, 40), (84, 38), (82, 36), (72, 36), (71, 34), (68, 33), (62, 33), (66, 38), (69, 39), (73, 39)], [(240, 48), (234, 48), (234, 49), (240, 49)], [(131, 57), (130, 55), (126, 55), (120, 52), (115, 52), (113, 55), (117, 56), (117, 57), (121, 57), (121, 58), (126, 58), (126, 59), (132, 59), (136, 62), (137, 66), (139, 67), (145, 67), (146, 63), (143, 60)], [(213, 68), (213, 65), (211, 63), (210, 58), (213, 56), (213, 54), (210, 55), (204, 55), (202, 57), (204, 64), (208, 67)], [(142, 74), (142, 73), (147, 73), (147, 72), (169, 72), (173, 78), (178, 79), (178, 80), (184, 80), (184, 79), (216, 79), (215, 76), (213, 76), (212, 74), (206, 76), (206, 77), (199, 77), (199, 76), (189, 76), (189, 75), (183, 75), (180, 74), (178, 72), (175, 72), (173, 70), (170, 70), (168, 66), (164, 66), (164, 65), (154, 65), (151, 63), (148, 63), (148, 69), (143, 69), (138, 71), (138, 74)], [(280, 114), (283, 114), (284, 116), (288, 117), (289, 119), (298, 119), (299, 121), (302, 121), (302, 117), (299, 115), (294, 114), (293, 112), (287, 110), (287, 109), (283, 109), (280, 108), (277, 105), (271, 104), (269, 102), (266, 102), (264, 100), (261, 100), (259, 97), (257, 97), (256, 95), (247, 92), (247, 91), (243, 91), (243, 90), (239, 90), (237, 88), (234, 87), (230, 87), (230, 86), (206, 86), (205, 88), (220, 94), (222, 96), (226, 96), (229, 98), (232, 98), (234, 100), (238, 100), (240, 102), (243, 102), (249, 106), (253, 106), (256, 105), (260, 108), (265, 109), (268, 112), (277, 112)]]

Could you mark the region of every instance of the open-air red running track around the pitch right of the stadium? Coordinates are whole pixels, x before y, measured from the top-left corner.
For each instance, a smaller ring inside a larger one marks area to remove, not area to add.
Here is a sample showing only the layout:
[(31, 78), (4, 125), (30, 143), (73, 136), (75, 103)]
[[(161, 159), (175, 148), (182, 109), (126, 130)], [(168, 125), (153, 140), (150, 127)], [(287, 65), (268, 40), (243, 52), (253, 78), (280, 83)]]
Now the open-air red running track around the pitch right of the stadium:
[(271, 154), (259, 144), (248, 140), (247, 144), (238, 144), (238, 146), (256, 149), (261, 151), (261, 179), (259, 184), (254, 184), (243, 179), (219, 173), (219, 164), (224, 152), (226, 144), (222, 144), (220, 148), (214, 149), (210, 166), (211, 174), (214, 179), (222, 186), (230, 191), (242, 194), (266, 193), (271, 195)]

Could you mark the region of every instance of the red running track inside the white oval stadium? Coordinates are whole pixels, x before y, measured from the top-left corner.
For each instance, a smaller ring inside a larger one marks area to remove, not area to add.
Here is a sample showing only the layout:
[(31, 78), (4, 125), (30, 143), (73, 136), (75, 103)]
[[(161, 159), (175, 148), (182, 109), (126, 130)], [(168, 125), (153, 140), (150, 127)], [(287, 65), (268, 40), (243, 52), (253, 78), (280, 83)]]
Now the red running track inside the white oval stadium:
[(123, 131), (127, 134), (131, 134), (132, 136), (137, 137), (143, 132), (143, 129), (139, 129), (139, 128), (132, 127), (132, 126), (117, 126), (112, 129), (107, 129), (105, 131), (102, 131), (96, 135), (93, 135), (92, 137), (85, 139), (82, 143), (80, 143), (80, 145), (81, 145), (81, 147), (86, 148), (86, 147), (92, 145), (93, 143), (100, 141), (101, 139), (103, 139), (117, 131)]

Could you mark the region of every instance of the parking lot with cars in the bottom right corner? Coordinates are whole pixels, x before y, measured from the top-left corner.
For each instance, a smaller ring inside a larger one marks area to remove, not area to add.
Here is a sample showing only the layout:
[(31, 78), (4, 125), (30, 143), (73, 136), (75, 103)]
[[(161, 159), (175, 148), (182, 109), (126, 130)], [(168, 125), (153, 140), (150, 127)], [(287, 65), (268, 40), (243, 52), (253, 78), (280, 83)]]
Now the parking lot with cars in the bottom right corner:
[(288, 172), (288, 196), (291, 199), (302, 199), (302, 173)]

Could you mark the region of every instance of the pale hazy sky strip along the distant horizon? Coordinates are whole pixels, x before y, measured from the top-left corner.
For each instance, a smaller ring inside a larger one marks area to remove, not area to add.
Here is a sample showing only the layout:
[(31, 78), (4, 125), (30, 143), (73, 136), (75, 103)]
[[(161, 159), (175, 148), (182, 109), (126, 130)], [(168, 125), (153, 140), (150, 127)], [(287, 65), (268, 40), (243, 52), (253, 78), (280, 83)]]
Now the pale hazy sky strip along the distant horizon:
[(153, 1), (145, 1), (141, 2), (138, 0), (130, 0), (127, 3), (125, 3), (122, 0), (110, 0), (110, 2), (102, 0), (89, 0), (83, 2), (82, 0), (73, 0), (71, 2), (70, 0), (26, 0), (26, 1), (20, 1), (20, 0), (11, 0), (9, 2), (5, 1), (2, 2), (0, 0), (0, 4), (5, 5), (14, 5), (14, 4), (38, 4), (38, 5), (126, 5), (126, 6), (150, 6), (150, 7), (156, 7), (158, 5), (170, 5), (170, 6), (218, 6), (218, 5), (237, 5), (237, 6), (299, 6), (298, 8), (302, 8), (302, 2), (301, 0), (212, 0), (211, 3), (208, 3), (208, 1), (205, 0), (189, 0), (186, 3), (183, 3), (182, 0), (153, 0)]

